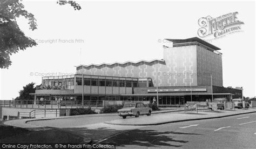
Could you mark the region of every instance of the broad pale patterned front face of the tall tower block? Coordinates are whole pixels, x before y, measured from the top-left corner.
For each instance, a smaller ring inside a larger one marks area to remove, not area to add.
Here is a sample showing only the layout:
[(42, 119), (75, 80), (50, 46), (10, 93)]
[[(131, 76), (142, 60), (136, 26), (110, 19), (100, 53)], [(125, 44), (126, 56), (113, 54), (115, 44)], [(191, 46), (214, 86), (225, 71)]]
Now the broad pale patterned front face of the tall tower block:
[(164, 48), (165, 67), (160, 68), (159, 86), (197, 86), (196, 45)]

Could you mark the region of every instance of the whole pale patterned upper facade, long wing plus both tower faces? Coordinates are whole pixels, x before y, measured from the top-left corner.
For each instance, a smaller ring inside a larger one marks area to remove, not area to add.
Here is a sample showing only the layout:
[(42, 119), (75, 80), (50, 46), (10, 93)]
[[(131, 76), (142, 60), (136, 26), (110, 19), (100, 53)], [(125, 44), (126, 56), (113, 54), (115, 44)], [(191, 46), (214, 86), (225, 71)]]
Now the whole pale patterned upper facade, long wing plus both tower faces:
[(212, 74), (212, 85), (223, 86), (221, 55), (199, 44), (165, 47), (163, 60), (77, 66), (77, 73), (82, 72), (85, 75), (152, 78), (154, 86), (157, 76), (159, 86), (210, 86)]

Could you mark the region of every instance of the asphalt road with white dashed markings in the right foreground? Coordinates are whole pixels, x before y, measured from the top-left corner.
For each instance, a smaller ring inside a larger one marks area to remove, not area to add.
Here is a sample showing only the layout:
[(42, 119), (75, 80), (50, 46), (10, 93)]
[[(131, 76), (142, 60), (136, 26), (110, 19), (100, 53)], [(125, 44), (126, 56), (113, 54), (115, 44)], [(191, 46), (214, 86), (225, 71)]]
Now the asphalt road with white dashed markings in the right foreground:
[(255, 148), (256, 114), (138, 127), (100, 144), (122, 148)]

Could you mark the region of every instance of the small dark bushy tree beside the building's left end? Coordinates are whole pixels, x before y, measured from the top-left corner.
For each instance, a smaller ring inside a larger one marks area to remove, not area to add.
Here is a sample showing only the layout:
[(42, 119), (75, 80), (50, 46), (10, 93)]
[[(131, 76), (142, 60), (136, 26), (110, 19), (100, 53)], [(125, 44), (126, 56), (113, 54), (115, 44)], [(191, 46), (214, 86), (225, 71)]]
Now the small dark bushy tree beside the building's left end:
[(34, 100), (34, 96), (30, 93), (35, 93), (36, 87), (34, 87), (35, 83), (29, 83), (26, 86), (23, 86), (23, 90), (19, 91), (19, 97), (15, 98), (15, 100)]

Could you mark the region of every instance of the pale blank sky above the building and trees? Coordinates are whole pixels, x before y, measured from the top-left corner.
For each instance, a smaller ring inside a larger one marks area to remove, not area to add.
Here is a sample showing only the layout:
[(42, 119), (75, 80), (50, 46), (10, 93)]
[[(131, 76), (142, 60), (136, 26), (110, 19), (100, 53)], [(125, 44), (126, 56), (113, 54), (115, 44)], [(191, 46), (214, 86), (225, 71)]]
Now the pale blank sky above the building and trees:
[(0, 99), (10, 100), (28, 83), (41, 84), (42, 76), (71, 75), (79, 64), (125, 62), (163, 58), (163, 39), (198, 37), (198, 19), (238, 12), (242, 32), (210, 43), (223, 53), (223, 84), (243, 87), (255, 96), (255, 3), (185, 1), (78, 1), (82, 10), (56, 1), (25, 1), (38, 29), (25, 35), (37, 46), (11, 56), (9, 69), (0, 70)]

